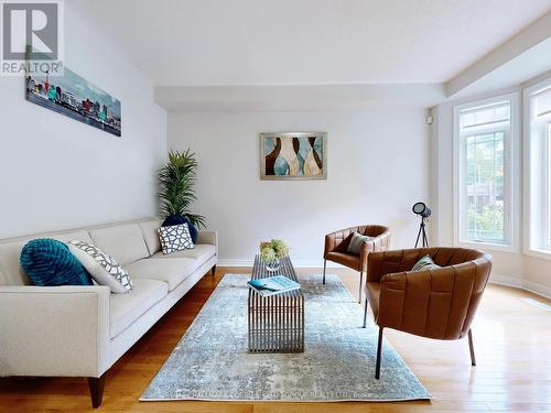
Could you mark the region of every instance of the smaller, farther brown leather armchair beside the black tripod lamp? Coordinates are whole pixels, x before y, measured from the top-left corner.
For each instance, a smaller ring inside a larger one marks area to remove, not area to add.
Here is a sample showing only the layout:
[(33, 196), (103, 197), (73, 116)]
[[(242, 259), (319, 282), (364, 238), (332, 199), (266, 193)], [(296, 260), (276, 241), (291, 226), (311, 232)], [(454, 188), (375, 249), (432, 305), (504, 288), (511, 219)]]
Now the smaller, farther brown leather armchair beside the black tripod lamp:
[[(359, 257), (347, 252), (353, 232), (375, 237), (374, 239), (364, 242)], [(382, 225), (363, 225), (327, 233), (325, 236), (325, 250), (323, 252), (323, 283), (325, 284), (325, 269), (327, 267), (327, 260), (359, 271), (359, 303), (361, 303), (361, 284), (364, 282), (364, 272), (367, 271), (367, 258), (369, 253), (375, 251), (385, 251), (389, 246), (390, 230)]]

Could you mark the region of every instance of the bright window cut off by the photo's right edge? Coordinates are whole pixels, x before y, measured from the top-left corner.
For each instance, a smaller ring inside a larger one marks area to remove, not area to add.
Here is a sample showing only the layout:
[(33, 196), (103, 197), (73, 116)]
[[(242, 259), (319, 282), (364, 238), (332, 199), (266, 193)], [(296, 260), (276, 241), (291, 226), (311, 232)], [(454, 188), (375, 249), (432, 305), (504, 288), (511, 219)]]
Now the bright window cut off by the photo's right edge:
[(529, 250), (551, 253), (551, 85), (527, 95)]

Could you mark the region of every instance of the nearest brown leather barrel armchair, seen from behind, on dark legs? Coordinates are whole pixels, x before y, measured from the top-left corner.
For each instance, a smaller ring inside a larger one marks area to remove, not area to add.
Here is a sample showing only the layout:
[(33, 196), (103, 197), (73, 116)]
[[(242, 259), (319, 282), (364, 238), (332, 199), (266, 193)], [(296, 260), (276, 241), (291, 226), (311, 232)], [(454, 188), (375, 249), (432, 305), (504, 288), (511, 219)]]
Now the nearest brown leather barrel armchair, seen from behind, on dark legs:
[[(441, 269), (410, 271), (429, 254)], [(380, 377), (382, 330), (393, 328), (421, 337), (455, 340), (468, 335), (476, 366), (471, 323), (491, 270), (491, 257), (464, 248), (420, 248), (370, 253), (367, 302), (379, 326), (375, 378)]]

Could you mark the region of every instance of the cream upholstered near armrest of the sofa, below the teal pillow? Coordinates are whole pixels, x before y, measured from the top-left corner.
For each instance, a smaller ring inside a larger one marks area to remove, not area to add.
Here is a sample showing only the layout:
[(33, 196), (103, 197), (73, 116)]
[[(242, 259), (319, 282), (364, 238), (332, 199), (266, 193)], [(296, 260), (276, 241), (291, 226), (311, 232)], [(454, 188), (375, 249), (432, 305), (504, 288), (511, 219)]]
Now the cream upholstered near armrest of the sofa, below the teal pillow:
[(109, 297), (105, 285), (1, 285), (0, 376), (100, 377)]

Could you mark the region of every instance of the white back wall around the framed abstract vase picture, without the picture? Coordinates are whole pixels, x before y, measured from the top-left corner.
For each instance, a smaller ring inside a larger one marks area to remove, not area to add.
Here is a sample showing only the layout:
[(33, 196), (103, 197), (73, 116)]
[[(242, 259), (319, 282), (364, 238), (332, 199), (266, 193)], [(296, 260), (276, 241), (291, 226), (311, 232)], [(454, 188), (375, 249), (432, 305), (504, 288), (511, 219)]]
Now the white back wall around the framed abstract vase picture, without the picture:
[[(300, 265), (320, 264), (324, 235), (360, 224), (391, 227), (411, 247), (411, 206), (428, 199), (423, 109), (169, 112), (169, 148), (196, 152), (195, 211), (220, 237), (222, 262), (248, 263), (258, 242), (283, 238)], [(260, 181), (260, 132), (328, 133), (327, 181)]]

